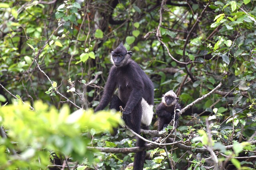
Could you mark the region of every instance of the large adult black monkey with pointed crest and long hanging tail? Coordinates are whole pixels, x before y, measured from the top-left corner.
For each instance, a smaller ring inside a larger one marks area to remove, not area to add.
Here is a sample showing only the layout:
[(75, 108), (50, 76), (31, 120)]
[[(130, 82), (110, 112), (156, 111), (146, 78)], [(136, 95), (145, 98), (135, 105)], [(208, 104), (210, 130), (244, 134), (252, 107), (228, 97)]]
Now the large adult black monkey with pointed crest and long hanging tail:
[[(100, 104), (94, 111), (103, 110), (111, 100), (109, 108), (120, 111), (119, 106), (122, 106), (125, 124), (139, 134), (140, 127), (148, 129), (153, 118), (154, 86), (131, 56), (132, 51), (127, 51), (123, 43), (111, 52), (110, 60), (113, 66), (110, 68)], [(113, 96), (116, 88), (118, 96)], [(145, 142), (138, 138), (136, 146), (144, 145)], [(134, 170), (143, 169), (145, 154), (146, 151), (135, 154)]]

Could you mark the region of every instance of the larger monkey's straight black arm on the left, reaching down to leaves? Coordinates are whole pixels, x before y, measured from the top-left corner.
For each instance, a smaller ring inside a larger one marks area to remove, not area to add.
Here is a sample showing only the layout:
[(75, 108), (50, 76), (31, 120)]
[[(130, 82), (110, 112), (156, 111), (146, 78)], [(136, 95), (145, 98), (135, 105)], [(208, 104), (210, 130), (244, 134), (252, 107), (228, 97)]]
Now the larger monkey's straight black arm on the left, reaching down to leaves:
[(108, 80), (106, 82), (106, 85), (104, 87), (103, 95), (100, 100), (100, 104), (95, 108), (94, 112), (97, 112), (99, 110), (103, 110), (108, 103), (110, 102), (110, 99), (113, 95), (113, 92), (116, 87), (116, 81), (114, 79), (114, 71), (113, 69), (110, 69)]

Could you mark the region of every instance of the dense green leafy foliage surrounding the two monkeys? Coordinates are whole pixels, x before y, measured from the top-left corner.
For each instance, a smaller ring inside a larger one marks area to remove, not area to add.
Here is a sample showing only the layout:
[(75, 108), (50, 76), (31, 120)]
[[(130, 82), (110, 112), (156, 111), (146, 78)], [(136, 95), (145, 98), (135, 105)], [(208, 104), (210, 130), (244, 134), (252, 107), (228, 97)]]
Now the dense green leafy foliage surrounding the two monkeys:
[(173, 89), (184, 108), (223, 84), (181, 115), (167, 140), (178, 143), (148, 147), (144, 168), (256, 168), (255, 3), (0, 1), (0, 167), (47, 169), (53, 157), (64, 160), (60, 168), (124, 169), (132, 162), (133, 152), (86, 147), (134, 146), (128, 130), (107, 132), (118, 114), (92, 114), (109, 53), (123, 41), (153, 81), (156, 105)]

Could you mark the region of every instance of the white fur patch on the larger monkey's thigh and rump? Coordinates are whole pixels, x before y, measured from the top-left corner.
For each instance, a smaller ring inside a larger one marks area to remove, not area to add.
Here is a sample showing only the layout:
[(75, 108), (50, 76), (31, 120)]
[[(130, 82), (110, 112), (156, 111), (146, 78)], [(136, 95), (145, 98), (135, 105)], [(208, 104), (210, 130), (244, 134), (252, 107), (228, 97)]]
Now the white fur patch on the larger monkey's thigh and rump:
[(143, 123), (146, 126), (149, 126), (151, 124), (153, 114), (154, 114), (153, 105), (149, 105), (148, 102), (144, 98), (142, 98), (141, 106), (142, 106), (141, 123)]

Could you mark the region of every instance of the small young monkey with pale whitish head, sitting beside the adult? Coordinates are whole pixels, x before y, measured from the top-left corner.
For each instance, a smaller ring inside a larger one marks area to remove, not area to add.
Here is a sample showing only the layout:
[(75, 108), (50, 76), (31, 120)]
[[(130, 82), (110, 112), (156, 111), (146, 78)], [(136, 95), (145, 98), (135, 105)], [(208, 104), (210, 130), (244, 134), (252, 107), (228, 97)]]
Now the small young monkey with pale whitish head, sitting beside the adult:
[[(158, 131), (163, 130), (163, 128), (167, 127), (168, 124), (172, 121), (174, 117), (174, 108), (176, 105), (176, 110), (180, 109), (180, 104), (178, 101), (180, 100), (176, 94), (170, 90), (165, 93), (162, 97), (162, 102), (156, 107), (156, 115), (158, 116)], [(178, 127), (179, 123), (179, 111), (175, 113), (175, 128)]]

